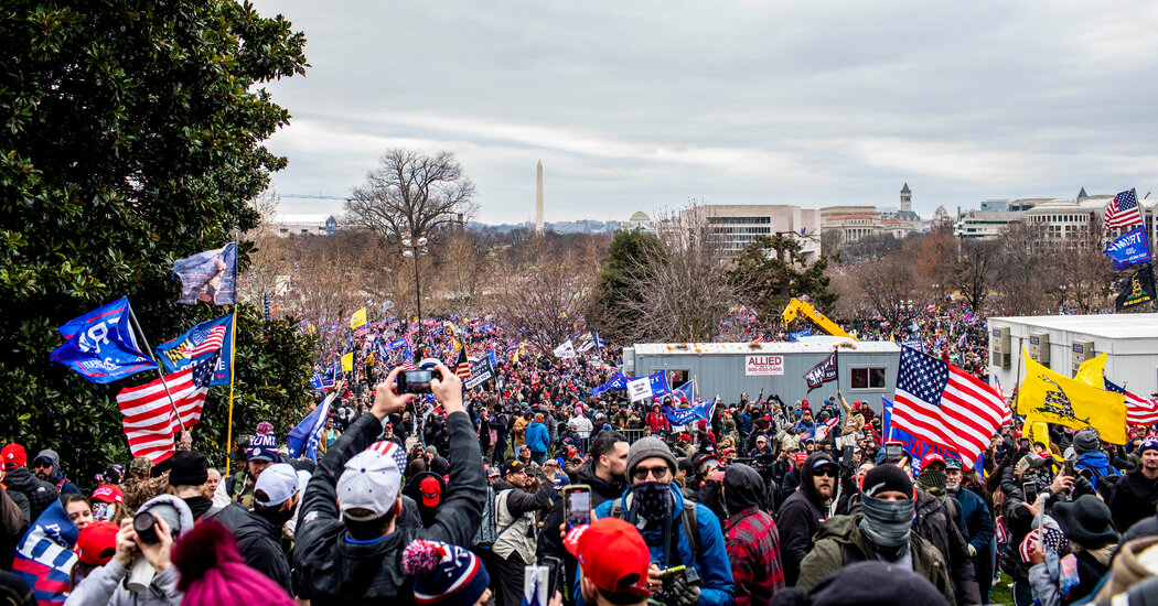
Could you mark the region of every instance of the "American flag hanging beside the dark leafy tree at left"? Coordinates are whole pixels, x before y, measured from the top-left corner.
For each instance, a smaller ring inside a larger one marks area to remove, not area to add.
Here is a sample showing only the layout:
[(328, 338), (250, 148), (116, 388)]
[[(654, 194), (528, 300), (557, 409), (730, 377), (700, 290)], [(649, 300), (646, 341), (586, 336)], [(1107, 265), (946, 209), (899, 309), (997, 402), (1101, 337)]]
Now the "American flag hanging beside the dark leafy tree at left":
[(161, 379), (120, 390), (117, 406), (125, 415), (123, 427), (133, 457), (148, 457), (153, 463), (161, 463), (173, 456), (173, 435), (182, 428), (189, 429), (201, 417), (217, 361), (218, 356), (213, 355), (164, 376), (164, 384), (181, 413), (179, 421), (174, 417)]

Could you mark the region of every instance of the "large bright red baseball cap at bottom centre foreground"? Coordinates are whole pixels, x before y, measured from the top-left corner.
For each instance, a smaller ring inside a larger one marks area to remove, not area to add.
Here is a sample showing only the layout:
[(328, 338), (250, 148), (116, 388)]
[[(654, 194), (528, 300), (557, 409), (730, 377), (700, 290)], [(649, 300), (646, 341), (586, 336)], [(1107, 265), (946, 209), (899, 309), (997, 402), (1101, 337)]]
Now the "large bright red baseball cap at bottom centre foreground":
[(651, 553), (639, 531), (618, 518), (603, 518), (576, 526), (563, 540), (579, 560), (582, 574), (608, 593), (648, 596)]

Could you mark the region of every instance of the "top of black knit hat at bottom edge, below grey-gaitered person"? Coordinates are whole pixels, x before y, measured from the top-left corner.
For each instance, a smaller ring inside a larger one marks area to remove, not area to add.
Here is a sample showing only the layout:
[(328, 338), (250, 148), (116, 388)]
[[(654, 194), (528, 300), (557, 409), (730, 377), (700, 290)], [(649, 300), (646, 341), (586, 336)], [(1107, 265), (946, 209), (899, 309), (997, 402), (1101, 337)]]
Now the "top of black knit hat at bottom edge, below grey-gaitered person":
[[(892, 467), (892, 466), (891, 466)], [(894, 467), (895, 468), (895, 467)], [(858, 562), (837, 569), (805, 591), (777, 590), (772, 606), (947, 606), (945, 596), (913, 570), (884, 562)]]

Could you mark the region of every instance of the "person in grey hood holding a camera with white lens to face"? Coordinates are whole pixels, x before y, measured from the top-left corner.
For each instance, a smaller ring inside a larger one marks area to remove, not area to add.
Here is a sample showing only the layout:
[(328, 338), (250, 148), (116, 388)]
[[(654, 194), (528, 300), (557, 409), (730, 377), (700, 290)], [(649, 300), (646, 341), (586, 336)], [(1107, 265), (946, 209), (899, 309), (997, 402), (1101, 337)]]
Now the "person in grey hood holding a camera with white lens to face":
[[(193, 527), (193, 515), (173, 495), (151, 498), (120, 520), (112, 561), (73, 590), (66, 606), (176, 606), (182, 593), (170, 556), (173, 542)], [(126, 578), (127, 577), (127, 578)]]

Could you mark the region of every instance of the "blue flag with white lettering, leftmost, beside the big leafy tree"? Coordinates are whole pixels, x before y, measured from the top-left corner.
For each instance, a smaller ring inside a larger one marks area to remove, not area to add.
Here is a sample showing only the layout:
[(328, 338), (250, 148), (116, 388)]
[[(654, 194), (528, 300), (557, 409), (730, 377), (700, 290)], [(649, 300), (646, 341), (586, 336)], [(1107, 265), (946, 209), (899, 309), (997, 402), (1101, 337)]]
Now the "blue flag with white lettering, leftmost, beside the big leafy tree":
[(59, 362), (93, 383), (112, 383), (156, 368), (137, 346), (129, 298), (120, 297), (57, 328), (65, 345), (52, 350)]

